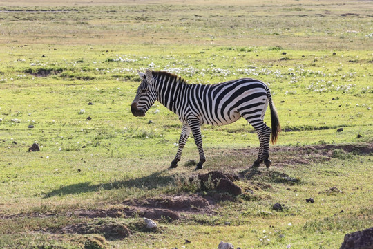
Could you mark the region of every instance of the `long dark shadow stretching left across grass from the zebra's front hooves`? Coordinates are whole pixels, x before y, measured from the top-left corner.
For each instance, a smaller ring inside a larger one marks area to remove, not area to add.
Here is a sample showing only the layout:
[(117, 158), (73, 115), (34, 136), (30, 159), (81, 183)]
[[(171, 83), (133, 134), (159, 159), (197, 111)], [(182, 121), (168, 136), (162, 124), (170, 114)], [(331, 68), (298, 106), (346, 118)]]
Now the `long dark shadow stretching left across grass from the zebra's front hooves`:
[(175, 181), (173, 175), (164, 175), (166, 170), (160, 172), (153, 172), (148, 176), (139, 178), (131, 178), (123, 181), (112, 181), (108, 183), (91, 184), (86, 181), (84, 183), (75, 183), (56, 190), (52, 190), (44, 194), (44, 199), (52, 196), (66, 196), (69, 194), (83, 194), (87, 192), (97, 192), (101, 190), (117, 190), (119, 188), (140, 188), (141, 190), (153, 190), (158, 187), (165, 187)]

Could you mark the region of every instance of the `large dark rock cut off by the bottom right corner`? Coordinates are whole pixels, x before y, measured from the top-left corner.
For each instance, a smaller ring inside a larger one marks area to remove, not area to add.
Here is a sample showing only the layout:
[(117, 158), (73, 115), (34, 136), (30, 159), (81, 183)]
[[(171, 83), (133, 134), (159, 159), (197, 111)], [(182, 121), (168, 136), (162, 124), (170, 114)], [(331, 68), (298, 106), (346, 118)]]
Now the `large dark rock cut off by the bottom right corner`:
[(373, 249), (373, 227), (346, 234), (340, 249)]

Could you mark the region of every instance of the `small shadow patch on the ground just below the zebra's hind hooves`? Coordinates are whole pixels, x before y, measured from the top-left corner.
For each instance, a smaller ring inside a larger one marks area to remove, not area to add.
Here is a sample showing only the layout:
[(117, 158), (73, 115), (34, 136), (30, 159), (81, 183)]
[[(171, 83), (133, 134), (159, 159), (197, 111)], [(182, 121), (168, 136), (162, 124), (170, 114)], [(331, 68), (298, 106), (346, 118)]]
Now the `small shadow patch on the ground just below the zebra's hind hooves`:
[(287, 183), (294, 185), (295, 183), (301, 183), (301, 179), (297, 177), (289, 176), (284, 172), (278, 172), (273, 169), (260, 169), (251, 167), (239, 172), (240, 178), (245, 178), (251, 181), (261, 181), (267, 183)]

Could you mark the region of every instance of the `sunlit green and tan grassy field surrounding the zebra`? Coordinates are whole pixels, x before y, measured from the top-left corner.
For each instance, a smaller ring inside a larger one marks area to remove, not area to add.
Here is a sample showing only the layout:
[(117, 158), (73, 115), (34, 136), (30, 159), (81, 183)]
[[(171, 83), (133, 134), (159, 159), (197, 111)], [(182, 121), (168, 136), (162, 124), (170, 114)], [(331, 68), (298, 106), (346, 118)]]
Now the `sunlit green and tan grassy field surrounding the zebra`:
[[(372, 1), (0, 6), (0, 248), (339, 248), (372, 227)], [(158, 102), (132, 116), (146, 68), (267, 82), (271, 168), (249, 168), (258, 138), (238, 120), (202, 127), (202, 172), (193, 138), (166, 170), (182, 125)], [(189, 179), (212, 170), (242, 194)]]

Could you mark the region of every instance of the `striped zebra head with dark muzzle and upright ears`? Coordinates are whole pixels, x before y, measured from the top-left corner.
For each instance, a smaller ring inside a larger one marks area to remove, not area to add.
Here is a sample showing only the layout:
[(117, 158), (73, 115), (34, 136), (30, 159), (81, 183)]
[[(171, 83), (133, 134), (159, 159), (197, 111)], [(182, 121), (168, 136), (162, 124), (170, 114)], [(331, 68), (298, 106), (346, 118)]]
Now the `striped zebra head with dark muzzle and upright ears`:
[(150, 70), (145, 73), (139, 73), (141, 84), (137, 89), (135, 100), (131, 104), (132, 114), (136, 117), (144, 117), (157, 99), (157, 91), (155, 91), (153, 84), (153, 75)]

